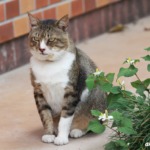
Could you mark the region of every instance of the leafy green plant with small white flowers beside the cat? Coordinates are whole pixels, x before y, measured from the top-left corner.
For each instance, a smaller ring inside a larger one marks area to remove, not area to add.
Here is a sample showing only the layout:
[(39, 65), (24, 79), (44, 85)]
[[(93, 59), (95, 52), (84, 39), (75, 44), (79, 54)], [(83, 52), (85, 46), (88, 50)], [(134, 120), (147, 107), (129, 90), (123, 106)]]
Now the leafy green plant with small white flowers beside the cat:
[[(145, 49), (150, 51), (150, 47)], [(142, 57), (145, 61), (150, 61), (150, 55)], [(112, 129), (115, 133), (111, 136), (111, 141), (105, 145), (105, 150), (148, 150), (145, 144), (150, 142), (150, 78), (141, 80), (136, 68), (139, 59), (128, 58), (124, 63), (127, 68), (120, 68), (117, 75), (118, 85), (114, 85), (114, 73), (105, 75), (104, 72), (96, 70), (88, 76), (86, 85), (89, 90), (96, 86), (108, 94), (108, 112), (104, 114), (99, 110), (91, 110), (95, 120), (89, 123), (88, 131), (102, 133), (105, 128)], [(150, 72), (150, 64), (147, 65)], [(120, 77), (136, 76), (137, 80), (131, 82), (131, 86), (136, 89), (136, 93), (126, 90), (124, 81)], [(109, 118), (113, 122), (108, 124)], [(99, 121), (100, 120), (100, 121)], [(101, 123), (100, 123), (101, 122)]]

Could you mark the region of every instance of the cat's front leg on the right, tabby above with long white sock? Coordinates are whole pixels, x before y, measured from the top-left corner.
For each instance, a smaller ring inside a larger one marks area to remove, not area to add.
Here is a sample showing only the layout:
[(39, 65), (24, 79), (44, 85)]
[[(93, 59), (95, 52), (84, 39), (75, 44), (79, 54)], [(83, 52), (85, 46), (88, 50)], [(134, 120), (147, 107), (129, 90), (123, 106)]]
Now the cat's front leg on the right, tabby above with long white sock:
[(54, 140), (56, 145), (64, 145), (69, 142), (68, 136), (78, 101), (77, 92), (74, 91), (72, 87), (67, 87), (64, 94), (64, 104), (58, 125), (58, 135)]

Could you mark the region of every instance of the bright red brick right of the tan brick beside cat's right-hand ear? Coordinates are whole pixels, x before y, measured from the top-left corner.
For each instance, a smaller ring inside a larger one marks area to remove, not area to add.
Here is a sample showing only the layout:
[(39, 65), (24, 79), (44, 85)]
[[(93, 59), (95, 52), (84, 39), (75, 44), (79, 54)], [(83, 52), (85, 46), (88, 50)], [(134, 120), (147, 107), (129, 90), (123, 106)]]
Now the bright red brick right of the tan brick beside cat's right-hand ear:
[(72, 17), (80, 15), (83, 12), (82, 0), (75, 0), (71, 3)]

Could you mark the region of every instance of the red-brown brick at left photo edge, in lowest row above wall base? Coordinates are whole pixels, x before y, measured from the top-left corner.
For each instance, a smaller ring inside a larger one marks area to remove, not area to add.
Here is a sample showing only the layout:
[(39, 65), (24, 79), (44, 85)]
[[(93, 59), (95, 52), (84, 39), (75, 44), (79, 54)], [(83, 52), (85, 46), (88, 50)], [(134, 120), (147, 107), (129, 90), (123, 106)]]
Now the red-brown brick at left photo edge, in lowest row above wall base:
[(0, 43), (8, 41), (14, 37), (13, 35), (13, 24), (7, 23), (0, 26)]

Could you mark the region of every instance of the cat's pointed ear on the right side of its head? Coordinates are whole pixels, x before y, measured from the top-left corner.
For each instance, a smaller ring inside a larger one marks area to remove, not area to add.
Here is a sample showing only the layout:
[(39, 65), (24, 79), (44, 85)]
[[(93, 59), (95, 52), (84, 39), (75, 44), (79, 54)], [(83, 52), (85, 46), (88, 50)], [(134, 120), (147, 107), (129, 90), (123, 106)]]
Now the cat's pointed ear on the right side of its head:
[(56, 22), (56, 25), (58, 28), (62, 29), (63, 31), (67, 31), (69, 24), (69, 17), (68, 15), (65, 15), (60, 20)]

